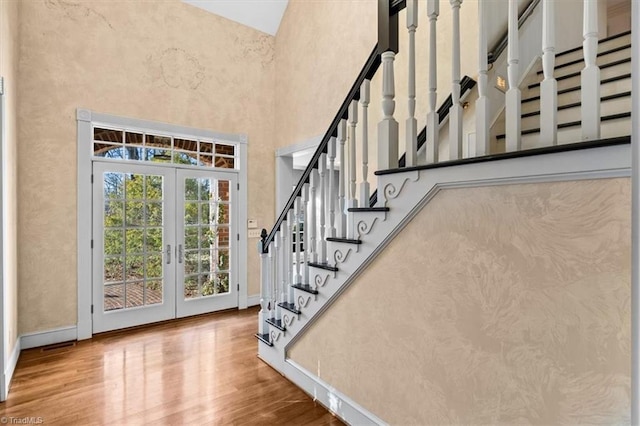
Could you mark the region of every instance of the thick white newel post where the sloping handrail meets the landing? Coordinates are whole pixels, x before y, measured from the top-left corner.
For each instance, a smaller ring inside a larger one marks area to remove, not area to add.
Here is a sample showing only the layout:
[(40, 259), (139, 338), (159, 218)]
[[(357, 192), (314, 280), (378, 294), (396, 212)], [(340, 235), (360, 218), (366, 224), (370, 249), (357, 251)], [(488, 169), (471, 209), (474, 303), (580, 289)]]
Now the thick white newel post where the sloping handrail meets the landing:
[[(378, 123), (378, 170), (398, 168), (398, 122), (393, 118), (396, 109), (393, 61), (396, 54), (382, 54), (382, 113)], [(379, 189), (378, 194), (382, 194)], [(383, 197), (378, 197), (382, 201)]]

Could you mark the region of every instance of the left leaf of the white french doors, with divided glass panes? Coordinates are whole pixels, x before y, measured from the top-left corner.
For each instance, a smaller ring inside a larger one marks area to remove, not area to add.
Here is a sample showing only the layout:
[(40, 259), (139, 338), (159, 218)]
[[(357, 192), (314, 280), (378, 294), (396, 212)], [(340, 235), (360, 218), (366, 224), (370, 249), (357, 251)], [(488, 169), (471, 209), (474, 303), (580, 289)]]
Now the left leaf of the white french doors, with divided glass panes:
[[(102, 186), (94, 188), (94, 260), (100, 272), (94, 279), (94, 315), (109, 319), (98, 328), (168, 319), (175, 275), (174, 227), (166, 218), (175, 203), (168, 191), (174, 172), (101, 163), (94, 168), (94, 185)], [(149, 309), (154, 307), (159, 309)]]

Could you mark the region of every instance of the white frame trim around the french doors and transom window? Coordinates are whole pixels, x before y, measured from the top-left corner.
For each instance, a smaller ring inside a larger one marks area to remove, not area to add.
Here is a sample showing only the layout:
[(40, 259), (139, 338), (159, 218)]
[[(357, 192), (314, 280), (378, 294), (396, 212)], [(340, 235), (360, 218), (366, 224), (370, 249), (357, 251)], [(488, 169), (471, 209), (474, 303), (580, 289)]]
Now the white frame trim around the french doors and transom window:
[[(238, 155), (238, 308), (247, 308), (247, 137), (243, 134), (225, 134), (210, 130), (101, 114), (88, 109), (76, 111), (77, 120), (77, 278), (78, 278), (78, 340), (92, 336), (92, 160), (93, 125), (179, 134), (215, 139), (233, 144)], [(140, 163), (143, 164), (143, 163)], [(200, 168), (198, 168), (200, 169)], [(216, 169), (212, 169), (216, 170)]]

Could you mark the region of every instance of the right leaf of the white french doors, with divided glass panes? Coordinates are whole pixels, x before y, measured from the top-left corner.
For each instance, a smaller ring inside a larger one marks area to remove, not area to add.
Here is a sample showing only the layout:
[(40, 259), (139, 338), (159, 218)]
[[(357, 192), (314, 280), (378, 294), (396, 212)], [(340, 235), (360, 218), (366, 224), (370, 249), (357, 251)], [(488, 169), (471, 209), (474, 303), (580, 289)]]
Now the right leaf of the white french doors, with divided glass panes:
[(179, 316), (237, 306), (231, 285), (234, 181), (235, 176), (179, 171)]

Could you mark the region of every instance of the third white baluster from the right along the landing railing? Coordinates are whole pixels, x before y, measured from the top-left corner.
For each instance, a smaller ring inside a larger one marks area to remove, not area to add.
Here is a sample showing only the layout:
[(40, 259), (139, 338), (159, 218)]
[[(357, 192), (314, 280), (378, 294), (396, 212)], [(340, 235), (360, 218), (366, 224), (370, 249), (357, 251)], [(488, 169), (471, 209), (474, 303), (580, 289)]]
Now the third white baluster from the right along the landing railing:
[(520, 151), (520, 89), (518, 88), (520, 48), (518, 37), (518, 1), (509, 0), (509, 45), (507, 51), (507, 76), (509, 90), (505, 98), (506, 109), (506, 151)]

